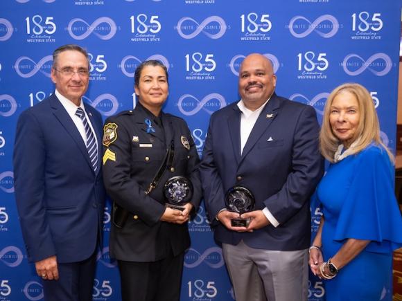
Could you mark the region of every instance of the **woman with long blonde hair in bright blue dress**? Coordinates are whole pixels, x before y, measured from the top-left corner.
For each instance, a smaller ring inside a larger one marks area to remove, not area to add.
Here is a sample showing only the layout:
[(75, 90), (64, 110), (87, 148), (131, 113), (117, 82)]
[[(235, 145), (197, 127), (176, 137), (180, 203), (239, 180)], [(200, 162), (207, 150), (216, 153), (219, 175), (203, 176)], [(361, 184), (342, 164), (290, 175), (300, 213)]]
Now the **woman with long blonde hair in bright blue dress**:
[(392, 251), (402, 246), (402, 218), (394, 157), (360, 84), (342, 84), (329, 95), (320, 149), (331, 165), (315, 193), (323, 216), (310, 248), (311, 271), (326, 280), (327, 301), (383, 300)]

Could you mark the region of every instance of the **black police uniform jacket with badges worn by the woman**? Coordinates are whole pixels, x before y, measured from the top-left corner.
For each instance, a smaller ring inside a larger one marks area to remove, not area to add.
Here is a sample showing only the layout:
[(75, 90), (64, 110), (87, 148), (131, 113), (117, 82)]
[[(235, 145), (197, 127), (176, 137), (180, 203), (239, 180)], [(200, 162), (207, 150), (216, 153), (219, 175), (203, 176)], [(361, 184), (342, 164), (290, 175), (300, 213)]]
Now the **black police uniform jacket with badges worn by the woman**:
[[(187, 224), (159, 220), (165, 210), (162, 188), (172, 176), (186, 176), (193, 184), (191, 203), (197, 209), (202, 190), (198, 172), (200, 159), (186, 122), (171, 114), (162, 114), (164, 136), (159, 129), (147, 133), (145, 120), (150, 117), (141, 105), (105, 122), (105, 129), (108, 124), (117, 126), (116, 140), (104, 147), (104, 152), (110, 151), (116, 156), (115, 161), (103, 161), (105, 187), (111, 199), (130, 212), (123, 228), (112, 224), (110, 232), (110, 255), (119, 260), (155, 262), (167, 257), (172, 250), (178, 255), (190, 246)], [(166, 170), (157, 188), (147, 195), (144, 191), (166, 155), (164, 138), (167, 145), (172, 139), (175, 142), (174, 170)], [(184, 147), (182, 138), (189, 141), (189, 149)]]

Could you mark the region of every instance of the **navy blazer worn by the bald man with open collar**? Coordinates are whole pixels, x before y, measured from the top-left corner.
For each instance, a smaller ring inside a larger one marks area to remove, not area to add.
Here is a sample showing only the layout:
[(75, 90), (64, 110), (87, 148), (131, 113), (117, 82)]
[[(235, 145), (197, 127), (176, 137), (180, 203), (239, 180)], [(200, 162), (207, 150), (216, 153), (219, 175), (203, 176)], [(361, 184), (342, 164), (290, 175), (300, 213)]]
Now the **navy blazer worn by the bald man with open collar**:
[[(216, 240), (236, 245), (243, 239), (252, 248), (268, 250), (308, 248), (309, 197), (323, 172), (313, 107), (274, 93), (261, 111), (242, 156), (240, 122), (237, 103), (213, 113), (200, 165), (204, 200), (216, 227)], [(216, 221), (219, 210), (225, 208), (225, 192), (234, 185), (251, 190), (255, 210), (267, 207), (279, 226), (238, 233)]]

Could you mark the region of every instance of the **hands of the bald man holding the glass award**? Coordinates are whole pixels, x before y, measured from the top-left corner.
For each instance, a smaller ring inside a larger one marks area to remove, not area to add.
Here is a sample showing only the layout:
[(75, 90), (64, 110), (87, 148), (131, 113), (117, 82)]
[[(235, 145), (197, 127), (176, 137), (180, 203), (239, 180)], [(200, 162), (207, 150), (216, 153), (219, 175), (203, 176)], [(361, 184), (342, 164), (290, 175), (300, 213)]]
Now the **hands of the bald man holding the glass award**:
[[(270, 221), (268, 221), (267, 217), (265, 217), (262, 210), (250, 211), (243, 213), (242, 215), (229, 210), (222, 210), (216, 217), (227, 229), (236, 232), (253, 232), (254, 230), (261, 229), (270, 224)], [(247, 227), (231, 226), (231, 219), (236, 219), (238, 217), (250, 219), (250, 224)]]

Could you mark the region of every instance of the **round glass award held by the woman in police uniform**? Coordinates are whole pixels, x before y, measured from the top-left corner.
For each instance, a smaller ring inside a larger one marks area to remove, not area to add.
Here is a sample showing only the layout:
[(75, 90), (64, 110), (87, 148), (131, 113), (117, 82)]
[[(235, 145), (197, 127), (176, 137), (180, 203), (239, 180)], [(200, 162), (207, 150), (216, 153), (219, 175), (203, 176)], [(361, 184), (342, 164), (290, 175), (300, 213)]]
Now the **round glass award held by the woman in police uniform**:
[(193, 184), (184, 176), (173, 176), (164, 185), (164, 196), (167, 207), (183, 211), (183, 206), (193, 197)]

